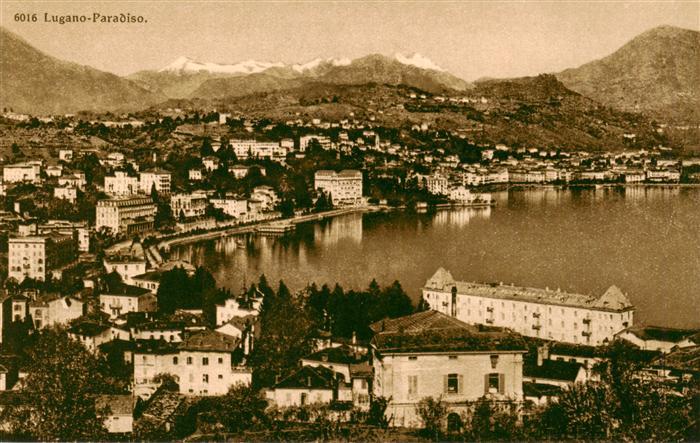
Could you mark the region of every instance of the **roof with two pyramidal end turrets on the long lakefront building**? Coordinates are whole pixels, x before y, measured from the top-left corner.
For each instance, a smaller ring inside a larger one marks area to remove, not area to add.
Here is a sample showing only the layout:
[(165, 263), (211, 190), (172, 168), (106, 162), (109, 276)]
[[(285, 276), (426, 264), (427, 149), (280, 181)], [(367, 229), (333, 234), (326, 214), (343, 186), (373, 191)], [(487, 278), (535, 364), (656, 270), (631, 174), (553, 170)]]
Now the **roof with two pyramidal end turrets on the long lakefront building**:
[(474, 283), (456, 281), (452, 274), (444, 268), (438, 269), (425, 283), (425, 289), (451, 291), (457, 288), (457, 293), (477, 297), (516, 300), (530, 303), (555, 304), (585, 309), (622, 311), (632, 309), (632, 303), (617, 286), (610, 286), (603, 295), (596, 297), (585, 294), (574, 294), (560, 290), (527, 288), (502, 283)]

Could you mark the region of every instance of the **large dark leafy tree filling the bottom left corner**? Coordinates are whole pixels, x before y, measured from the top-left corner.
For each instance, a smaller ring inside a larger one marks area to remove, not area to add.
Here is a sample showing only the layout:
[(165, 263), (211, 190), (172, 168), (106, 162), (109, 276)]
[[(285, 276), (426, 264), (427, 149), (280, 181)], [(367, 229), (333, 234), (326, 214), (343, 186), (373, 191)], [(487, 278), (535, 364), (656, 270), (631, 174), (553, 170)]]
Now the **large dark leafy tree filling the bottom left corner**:
[(22, 439), (88, 441), (107, 436), (95, 398), (114, 393), (103, 360), (65, 331), (47, 329), (28, 351), (24, 401), (6, 406), (2, 420)]

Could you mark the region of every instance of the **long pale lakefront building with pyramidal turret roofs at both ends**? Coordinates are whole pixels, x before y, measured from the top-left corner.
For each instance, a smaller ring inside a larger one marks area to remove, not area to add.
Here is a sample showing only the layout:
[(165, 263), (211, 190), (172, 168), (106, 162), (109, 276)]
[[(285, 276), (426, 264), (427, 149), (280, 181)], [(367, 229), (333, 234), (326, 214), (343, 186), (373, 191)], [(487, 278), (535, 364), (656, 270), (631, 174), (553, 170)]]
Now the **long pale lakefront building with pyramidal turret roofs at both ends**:
[(585, 345), (612, 341), (633, 323), (634, 307), (611, 286), (600, 296), (502, 283), (456, 281), (440, 268), (423, 298), (430, 307), (466, 323), (501, 326), (523, 335)]

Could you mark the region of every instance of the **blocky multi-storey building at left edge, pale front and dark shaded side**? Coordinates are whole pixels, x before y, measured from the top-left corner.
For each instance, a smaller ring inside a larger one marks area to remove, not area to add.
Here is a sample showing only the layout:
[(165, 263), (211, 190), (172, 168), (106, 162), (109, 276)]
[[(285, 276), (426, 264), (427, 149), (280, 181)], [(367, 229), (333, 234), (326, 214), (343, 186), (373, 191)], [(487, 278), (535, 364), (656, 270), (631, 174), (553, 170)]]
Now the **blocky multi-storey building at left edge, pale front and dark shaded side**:
[(51, 233), (44, 236), (8, 240), (8, 277), (46, 280), (48, 272), (75, 260), (77, 244), (72, 235)]

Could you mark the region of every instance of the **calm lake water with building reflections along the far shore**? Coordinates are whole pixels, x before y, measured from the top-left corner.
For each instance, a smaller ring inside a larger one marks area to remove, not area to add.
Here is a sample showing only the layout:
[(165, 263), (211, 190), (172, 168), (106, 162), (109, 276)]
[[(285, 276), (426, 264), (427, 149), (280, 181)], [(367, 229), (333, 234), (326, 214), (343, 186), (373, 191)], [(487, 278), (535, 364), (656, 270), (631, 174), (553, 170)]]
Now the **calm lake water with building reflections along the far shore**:
[(364, 288), (399, 280), (417, 298), (438, 267), (459, 280), (601, 294), (619, 286), (637, 322), (700, 327), (700, 189), (533, 189), (493, 209), (351, 214), (284, 238), (226, 238), (173, 248), (239, 291), (264, 273)]

